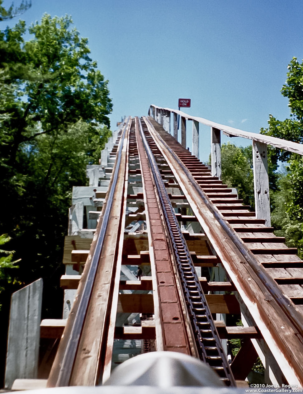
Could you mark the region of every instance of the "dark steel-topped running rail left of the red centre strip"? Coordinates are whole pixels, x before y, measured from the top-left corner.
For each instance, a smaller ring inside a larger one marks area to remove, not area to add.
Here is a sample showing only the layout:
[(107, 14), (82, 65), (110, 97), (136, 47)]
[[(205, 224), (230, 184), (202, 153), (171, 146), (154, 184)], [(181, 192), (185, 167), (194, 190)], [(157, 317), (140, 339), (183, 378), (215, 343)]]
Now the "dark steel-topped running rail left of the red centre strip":
[(64, 355), (62, 359), (61, 368), (58, 373), (58, 377), (55, 383), (55, 387), (65, 387), (69, 385), (69, 381), (72, 375), (72, 369), (74, 366), (74, 361), (76, 359), (76, 354), (78, 350), (79, 339), (82, 333), (82, 329), (84, 326), (84, 320), (86, 318), (87, 307), (89, 305), (89, 301), (91, 298), (93, 285), (95, 281), (95, 276), (97, 273), (97, 268), (99, 265), (100, 253), (102, 251), (102, 247), (104, 244), (104, 238), (106, 234), (106, 228), (108, 226), (110, 220), (110, 209), (113, 201), (113, 194), (115, 192), (115, 186), (117, 184), (117, 177), (119, 173), (119, 167), (121, 162), (121, 151), (123, 148), (123, 140), (125, 138), (126, 130), (129, 126), (129, 120), (125, 124), (123, 128), (123, 132), (120, 138), (119, 149), (117, 151), (117, 160), (115, 165), (115, 171), (113, 173), (112, 182), (110, 186), (110, 190), (108, 191), (106, 202), (103, 205), (103, 215), (100, 218), (102, 223), (100, 225), (99, 236), (97, 239), (96, 247), (93, 253), (93, 257), (91, 260), (91, 264), (89, 266), (89, 271), (87, 273), (86, 282), (84, 284), (83, 292), (80, 296), (80, 300), (78, 303), (78, 308), (76, 311), (76, 315), (72, 322), (71, 332), (69, 334), (69, 338), (67, 340), (67, 344), (65, 346)]

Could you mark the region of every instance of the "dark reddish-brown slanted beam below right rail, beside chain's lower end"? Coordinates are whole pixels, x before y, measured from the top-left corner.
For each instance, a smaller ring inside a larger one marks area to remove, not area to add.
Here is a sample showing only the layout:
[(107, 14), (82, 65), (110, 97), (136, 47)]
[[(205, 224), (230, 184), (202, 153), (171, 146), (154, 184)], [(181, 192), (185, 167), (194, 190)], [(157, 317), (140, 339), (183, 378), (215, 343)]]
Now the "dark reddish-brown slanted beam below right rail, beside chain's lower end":
[(253, 364), (255, 364), (258, 353), (255, 350), (250, 338), (244, 339), (241, 343), (236, 357), (231, 363), (231, 370), (236, 380), (245, 380)]

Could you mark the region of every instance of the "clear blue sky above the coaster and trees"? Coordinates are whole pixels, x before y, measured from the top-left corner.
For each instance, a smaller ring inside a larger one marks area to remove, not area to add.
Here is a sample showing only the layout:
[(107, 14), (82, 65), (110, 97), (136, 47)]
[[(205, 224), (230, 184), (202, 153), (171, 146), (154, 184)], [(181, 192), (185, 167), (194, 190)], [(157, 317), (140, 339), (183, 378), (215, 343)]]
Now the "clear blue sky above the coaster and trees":
[[(302, 1), (32, 0), (20, 18), (30, 25), (45, 12), (72, 15), (89, 39), (110, 81), (113, 129), (121, 116), (177, 108), (181, 97), (191, 98), (189, 114), (251, 132), (269, 113), (289, 117), (280, 89), (292, 57), (303, 58)], [(203, 128), (203, 160), (208, 145)]]

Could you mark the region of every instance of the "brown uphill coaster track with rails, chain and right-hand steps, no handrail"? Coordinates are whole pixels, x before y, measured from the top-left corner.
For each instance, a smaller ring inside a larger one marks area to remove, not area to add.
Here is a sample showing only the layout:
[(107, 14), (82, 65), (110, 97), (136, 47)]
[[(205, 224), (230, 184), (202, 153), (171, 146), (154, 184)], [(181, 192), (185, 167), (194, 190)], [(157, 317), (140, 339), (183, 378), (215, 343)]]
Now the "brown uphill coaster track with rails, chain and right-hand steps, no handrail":
[[(129, 338), (199, 358), (228, 386), (246, 377), (241, 364), (249, 370), (268, 349), (275, 381), (302, 386), (303, 262), (296, 250), (152, 117), (126, 119), (112, 157), (110, 186), (48, 387), (102, 384), (110, 376), (114, 340)], [(136, 182), (142, 192), (132, 194)], [(130, 212), (130, 206), (138, 209)], [(132, 221), (146, 223), (145, 232), (128, 234)], [(201, 230), (190, 234), (186, 223)], [(129, 253), (131, 237), (146, 232), (147, 250)], [(206, 252), (195, 253), (202, 243)], [(121, 266), (144, 264), (151, 277), (120, 281)], [(208, 268), (216, 266), (225, 282), (210, 281)], [(221, 309), (213, 307), (215, 297)], [(141, 327), (115, 327), (119, 311), (141, 312)], [(240, 312), (248, 327), (213, 320), (216, 313)], [(242, 338), (232, 364), (221, 342), (230, 338)]]

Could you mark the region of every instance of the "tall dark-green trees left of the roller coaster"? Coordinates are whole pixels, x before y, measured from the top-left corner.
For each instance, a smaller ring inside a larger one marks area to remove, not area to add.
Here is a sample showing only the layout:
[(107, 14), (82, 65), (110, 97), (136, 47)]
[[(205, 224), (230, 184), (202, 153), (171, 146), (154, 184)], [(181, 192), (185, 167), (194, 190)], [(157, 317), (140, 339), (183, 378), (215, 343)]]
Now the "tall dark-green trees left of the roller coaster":
[[(13, 15), (1, 4), (2, 19)], [(108, 81), (71, 18), (44, 15), (28, 32), (32, 38), (25, 41), (23, 21), (0, 31), (0, 234), (11, 237), (14, 258), (21, 258), (18, 269), (5, 268), (15, 281), (0, 278), (2, 338), (11, 292), (40, 277), (42, 317), (61, 317), (59, 277), (72, 186), (86, 185), (86, 165), (99, 164), (111, 135)]]

